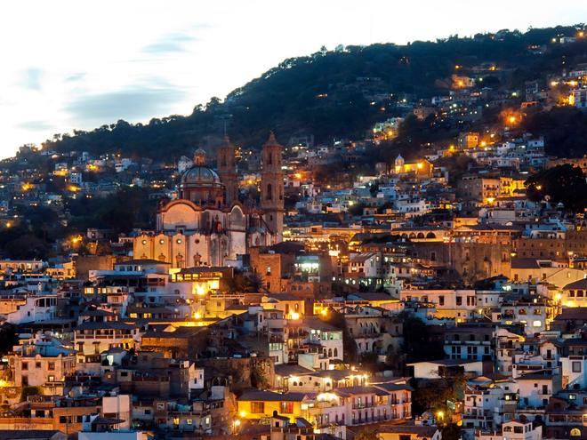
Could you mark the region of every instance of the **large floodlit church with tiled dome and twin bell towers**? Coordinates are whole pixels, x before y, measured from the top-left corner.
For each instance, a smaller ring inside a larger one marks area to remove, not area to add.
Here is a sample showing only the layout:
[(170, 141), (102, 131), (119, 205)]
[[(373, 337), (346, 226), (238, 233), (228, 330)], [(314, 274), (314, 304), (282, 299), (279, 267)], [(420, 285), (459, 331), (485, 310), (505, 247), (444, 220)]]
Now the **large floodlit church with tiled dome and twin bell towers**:
[(273, 133), (263, 145), (261, 200), (238, 201), (236, 148), (225, 136), (217, 150), (217, 171), (197, 149), (194, 164), (181, 174), (179, 197), (157, 211), (154, 231), (133, 238), (135, 259), (170, 263), (173, 268), (228, 266), (251, 246), (281, 242), (284, 180), (281, 145)]

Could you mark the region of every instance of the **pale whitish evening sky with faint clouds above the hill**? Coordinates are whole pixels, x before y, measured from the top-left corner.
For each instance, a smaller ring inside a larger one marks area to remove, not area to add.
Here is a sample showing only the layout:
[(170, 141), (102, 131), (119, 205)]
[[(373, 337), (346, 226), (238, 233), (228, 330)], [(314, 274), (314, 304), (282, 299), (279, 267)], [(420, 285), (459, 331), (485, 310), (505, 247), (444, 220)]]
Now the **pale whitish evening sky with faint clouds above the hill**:
[(325, 45), (587, 20), (551, 0), (19, 0), (0, 14), (0, 157), (54, 133), (187, 115)]

